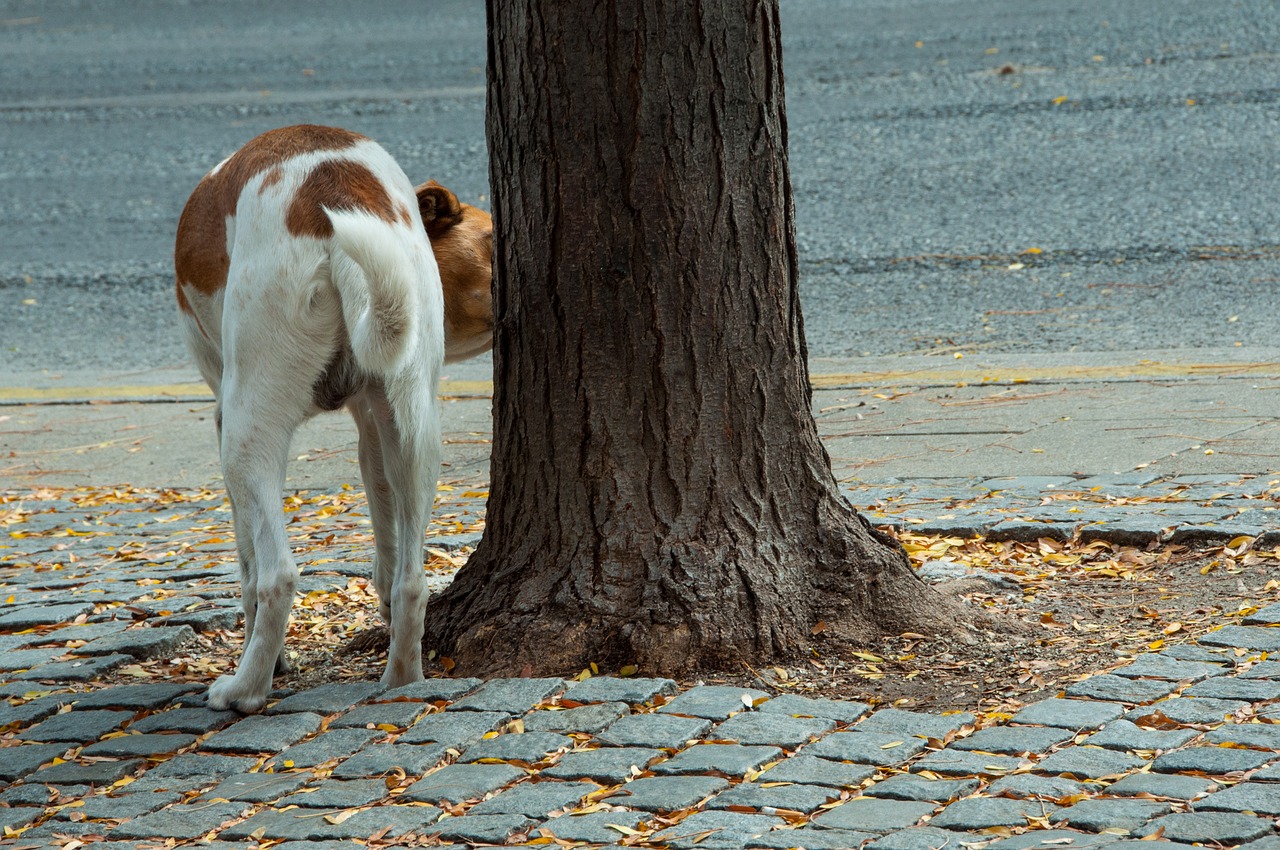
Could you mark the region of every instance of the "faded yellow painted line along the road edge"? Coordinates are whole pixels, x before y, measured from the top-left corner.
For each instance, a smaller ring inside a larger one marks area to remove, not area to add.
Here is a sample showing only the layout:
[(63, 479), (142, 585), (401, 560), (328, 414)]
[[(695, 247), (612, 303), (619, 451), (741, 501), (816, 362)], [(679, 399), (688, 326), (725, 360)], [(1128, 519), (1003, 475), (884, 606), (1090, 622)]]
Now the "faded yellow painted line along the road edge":
[[(1140, 362), (1111, 366), (1043, 366), (1043, 367), (954, 367), (900, 371), (827, 373), (809, 376), (814, 389), (851, 387), (901, 387), (927, 384), (1025, 384), (1053, 381), (1101, 381), (1178, 378), (1248, 378), (1280, 376), (1280, 362), (1256, 364), (1161, 364)], [(447, 398), (490, 398), (493, 381), (440, 381), (440, 396)], [(212, 394), (204, 384), (104, 385), (104, 387), (0, 387), (0, 405), (40, 405), (55, 402), (209, 399)]]

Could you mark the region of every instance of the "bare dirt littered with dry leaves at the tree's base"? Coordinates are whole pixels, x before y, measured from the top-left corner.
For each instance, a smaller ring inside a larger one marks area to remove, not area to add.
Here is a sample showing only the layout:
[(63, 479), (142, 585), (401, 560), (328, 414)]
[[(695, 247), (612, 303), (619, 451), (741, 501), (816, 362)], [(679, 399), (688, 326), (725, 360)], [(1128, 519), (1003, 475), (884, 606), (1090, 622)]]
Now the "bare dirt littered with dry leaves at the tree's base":
[[(735, 684), (916, 710), (1011, 713), (1137, 654), (1189, 643), (1280, 600), (1280, 581), (1271, 577), (1280, 553), (1256, 553), (1247, 544), (1243, 550), (1140, 550), (1101, 541), (1011, 544), (910, 536), (904, 541), (913, 561), (950, 558), (998, 576), (1000, 585), (970, 579), (950, 588), (961, 591), (959, 602), (980, 612), (992, 627), (965, 630), (964, 640), (908, 634), (863, 646), (836, 646), (819, 631), (813, 657), (805, 662), (773, 666), (744, 659), (739, 670), (708, 671), (681, 685)], [(940, 589), (948, 590), (947, 585)], [(343, 658), (343, 675), (378, 678), (384, 663), (376, 652), (378, 630), (362, 632), (357, 641), (365, 641), (365, 652)], [(332, 681), (325, 658), (324, 652), (303, 652), (298, 672), (278, 678), (276, 685), (303, 689)], [(428, 667), (429, 675), (447, 675), (440, 659)]]

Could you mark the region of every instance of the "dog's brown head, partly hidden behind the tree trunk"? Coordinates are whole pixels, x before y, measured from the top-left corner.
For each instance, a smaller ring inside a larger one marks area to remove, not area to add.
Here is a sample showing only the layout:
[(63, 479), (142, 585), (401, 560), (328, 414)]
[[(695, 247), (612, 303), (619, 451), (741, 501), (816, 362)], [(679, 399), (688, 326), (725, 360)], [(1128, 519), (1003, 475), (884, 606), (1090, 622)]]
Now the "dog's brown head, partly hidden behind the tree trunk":
[[(452, 192), (449, 195), (452, 197)], [(493, 347), (493, 218), (479, 207), (461, 204), (453, 224), (436, 228), (435, 234), (428, 228), (428, 236), (444, 289), (445, 357), (461, 360), (489, 351)]]

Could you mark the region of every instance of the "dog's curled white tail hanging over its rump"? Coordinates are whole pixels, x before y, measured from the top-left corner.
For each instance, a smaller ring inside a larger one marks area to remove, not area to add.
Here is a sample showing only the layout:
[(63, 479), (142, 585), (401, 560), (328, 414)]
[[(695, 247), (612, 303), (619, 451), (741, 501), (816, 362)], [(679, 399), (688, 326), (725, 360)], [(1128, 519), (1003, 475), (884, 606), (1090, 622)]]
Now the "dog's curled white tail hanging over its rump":
[(394, 371), (413, 339), (413, 262), (394, 228), (364, 212), (325, 210), (333, 223), (330, 274), (356, 362)]

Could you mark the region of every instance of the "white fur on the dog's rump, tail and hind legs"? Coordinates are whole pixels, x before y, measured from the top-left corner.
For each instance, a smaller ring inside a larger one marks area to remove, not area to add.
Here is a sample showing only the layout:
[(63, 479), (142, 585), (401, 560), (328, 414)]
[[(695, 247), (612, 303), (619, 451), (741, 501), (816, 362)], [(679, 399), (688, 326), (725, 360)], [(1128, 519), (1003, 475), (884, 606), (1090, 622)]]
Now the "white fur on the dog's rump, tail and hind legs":
[[(410, 223), (329, 210), (332, 239), (292, 236), (285, 211), (324, 159), (362, 163), (410, 210)], [(360, 431), (374, 584), (390, 622), (388, 686), (422, 677), (422, 533), (440, 466), (444, 306), (412, 184), (372, 142), (305, 154), (282, 169), (274, 186), (260, 191), (257, 177), (241, 193), (228, 227), (225, 289), (205, 297), (183, 287), (187, 343), (218, 398), (244, 608), (239, 666), (210, 687), (209, 704), (242, 712), (259, 710), (273, 670), (287, 667), (284, 634), (297, 585), (280, 511), (289, 442), (319, 412), (312, 387), (346, 341), (362, 373), (346, 406)]]

